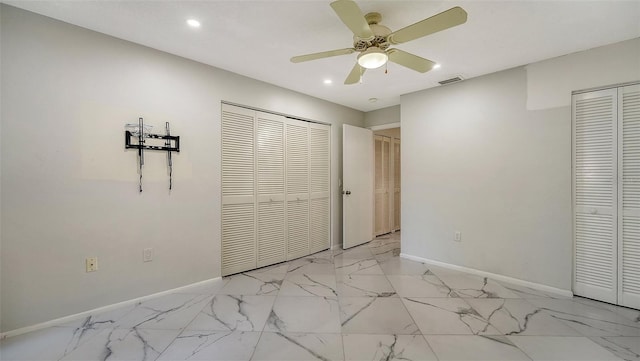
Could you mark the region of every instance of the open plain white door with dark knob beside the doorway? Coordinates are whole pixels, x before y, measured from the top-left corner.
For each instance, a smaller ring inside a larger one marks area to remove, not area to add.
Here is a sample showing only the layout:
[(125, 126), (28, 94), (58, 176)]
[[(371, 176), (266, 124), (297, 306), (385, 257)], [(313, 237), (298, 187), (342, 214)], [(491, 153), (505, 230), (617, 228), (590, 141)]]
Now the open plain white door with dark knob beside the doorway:
[(373, 132), (342, 126), (343, 248), (373, 239)]

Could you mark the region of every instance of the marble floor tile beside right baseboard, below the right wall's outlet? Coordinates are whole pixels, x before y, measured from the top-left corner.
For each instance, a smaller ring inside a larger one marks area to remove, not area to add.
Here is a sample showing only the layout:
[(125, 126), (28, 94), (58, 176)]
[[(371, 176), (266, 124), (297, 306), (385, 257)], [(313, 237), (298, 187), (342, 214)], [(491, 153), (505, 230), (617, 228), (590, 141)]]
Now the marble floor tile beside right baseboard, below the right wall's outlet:
[(438, 278), (462, 298), (520, 298), (487, 277), (443, 274), (438, 275)]

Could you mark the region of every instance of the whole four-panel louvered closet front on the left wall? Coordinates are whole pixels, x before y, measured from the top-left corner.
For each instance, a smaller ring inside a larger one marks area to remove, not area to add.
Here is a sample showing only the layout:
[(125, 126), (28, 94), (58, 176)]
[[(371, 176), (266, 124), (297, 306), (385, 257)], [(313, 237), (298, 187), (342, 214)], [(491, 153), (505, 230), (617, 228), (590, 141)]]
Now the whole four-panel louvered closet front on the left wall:
[(330, 246), (330, 127), (222, 104), (222, 275)]

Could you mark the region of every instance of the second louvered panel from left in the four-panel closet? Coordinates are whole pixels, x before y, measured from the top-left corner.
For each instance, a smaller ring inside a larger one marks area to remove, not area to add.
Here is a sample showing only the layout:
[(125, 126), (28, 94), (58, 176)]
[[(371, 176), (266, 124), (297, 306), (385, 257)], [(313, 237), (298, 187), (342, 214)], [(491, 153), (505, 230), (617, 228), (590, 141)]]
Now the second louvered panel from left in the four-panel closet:
[(287, 257), (284, 213), (284, 121), (257, 112), (258, 267)]

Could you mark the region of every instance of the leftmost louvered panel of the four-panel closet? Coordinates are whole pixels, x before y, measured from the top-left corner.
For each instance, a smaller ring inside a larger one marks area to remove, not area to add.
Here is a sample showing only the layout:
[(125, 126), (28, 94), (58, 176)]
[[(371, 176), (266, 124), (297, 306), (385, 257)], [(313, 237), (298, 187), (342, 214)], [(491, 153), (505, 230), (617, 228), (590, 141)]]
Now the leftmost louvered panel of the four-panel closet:
[(222, 275), (256, 268), (254, 114), (222, 105)]

